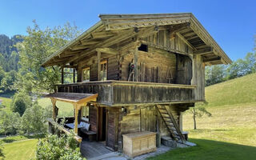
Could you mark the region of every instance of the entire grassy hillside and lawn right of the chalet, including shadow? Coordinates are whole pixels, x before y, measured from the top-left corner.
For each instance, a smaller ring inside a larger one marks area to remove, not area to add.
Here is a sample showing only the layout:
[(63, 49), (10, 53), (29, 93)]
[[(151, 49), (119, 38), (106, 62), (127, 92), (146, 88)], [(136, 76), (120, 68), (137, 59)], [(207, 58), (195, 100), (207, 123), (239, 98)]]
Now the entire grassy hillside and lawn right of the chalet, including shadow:
[(206, 109), (212, 117), (183, 114), (183, 130), (197, 146), (170, 150), (149, 159), (255, 159), (256, 74), (206, 87)]

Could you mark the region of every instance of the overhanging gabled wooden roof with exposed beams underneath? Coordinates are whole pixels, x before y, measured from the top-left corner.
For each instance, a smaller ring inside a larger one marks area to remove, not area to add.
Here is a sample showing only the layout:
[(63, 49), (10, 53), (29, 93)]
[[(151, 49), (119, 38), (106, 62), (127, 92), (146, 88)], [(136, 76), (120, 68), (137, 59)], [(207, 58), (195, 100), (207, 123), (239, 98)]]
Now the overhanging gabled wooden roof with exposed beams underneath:
[(72, 66), (78, 59), (94, 54), (98, 48), (112, 50), (109, 47), (118, 41), (154, 32), (154, 26), (164, 28), (181, 24), (188, 27), (179, 30), (177, 35), (194, 49), (195, 54), (204, 57), (206, 65), (231, 63), (230, 58), (193, 14), (100, 14), (99, 18), (101, 21), (46, 58), (42, 66), (65, 66), (68, 63)]

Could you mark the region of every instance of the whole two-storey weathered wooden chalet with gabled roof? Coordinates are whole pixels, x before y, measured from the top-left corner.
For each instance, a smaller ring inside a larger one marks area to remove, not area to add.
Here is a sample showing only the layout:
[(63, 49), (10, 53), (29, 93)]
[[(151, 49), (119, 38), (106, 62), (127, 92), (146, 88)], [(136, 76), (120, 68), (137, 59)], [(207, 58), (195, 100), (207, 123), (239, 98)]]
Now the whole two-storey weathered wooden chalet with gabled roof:
[[(186, 144), (182, 112), (205, 101), (205, 66), (230, 58), (190, 13), (99, 18), (42, 64), (62, 67), (62, 84), (48, 95), (53, 118), (56, 101), (72, 103), (78, 141), (86, 122), (90, 140), (112, 150), (124, 149), (122, 135), (148, 131)], [(73, 68), (77, 82), (64, 84), (63, 68)]]

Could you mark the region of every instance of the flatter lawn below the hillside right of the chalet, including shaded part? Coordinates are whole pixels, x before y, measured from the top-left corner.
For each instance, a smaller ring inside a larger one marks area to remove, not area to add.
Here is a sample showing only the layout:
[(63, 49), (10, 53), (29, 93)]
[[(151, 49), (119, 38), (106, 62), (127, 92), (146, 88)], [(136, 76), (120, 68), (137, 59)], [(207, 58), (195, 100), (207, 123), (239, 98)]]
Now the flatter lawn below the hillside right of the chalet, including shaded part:
[(149, 159), (255, 159), (256, 102), (208, 109), (213, 116), (198, 118), (198, 130), (190, 114), (183, 116), (183, 129), (197, 146), (170, 150)]

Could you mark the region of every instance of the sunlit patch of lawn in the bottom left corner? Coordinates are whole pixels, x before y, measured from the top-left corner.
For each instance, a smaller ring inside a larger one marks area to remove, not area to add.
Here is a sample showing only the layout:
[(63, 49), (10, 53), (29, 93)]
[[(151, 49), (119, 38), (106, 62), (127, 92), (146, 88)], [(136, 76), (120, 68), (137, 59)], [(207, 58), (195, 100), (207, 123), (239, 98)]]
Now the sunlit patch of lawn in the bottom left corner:
[(27, 160), (35, 158), (35, 150), (38, 139), (26, 139), (23, 141), (4, 144), (3, 153), (6, 160)]

